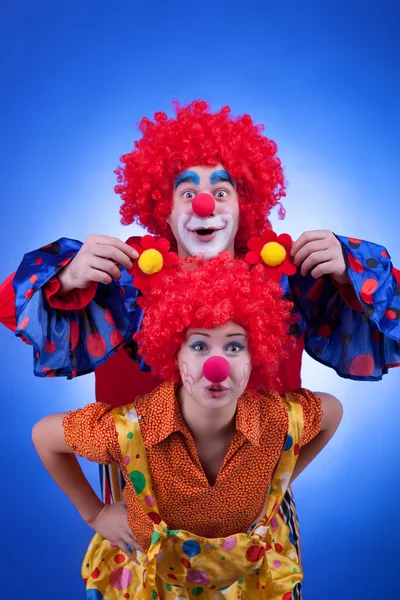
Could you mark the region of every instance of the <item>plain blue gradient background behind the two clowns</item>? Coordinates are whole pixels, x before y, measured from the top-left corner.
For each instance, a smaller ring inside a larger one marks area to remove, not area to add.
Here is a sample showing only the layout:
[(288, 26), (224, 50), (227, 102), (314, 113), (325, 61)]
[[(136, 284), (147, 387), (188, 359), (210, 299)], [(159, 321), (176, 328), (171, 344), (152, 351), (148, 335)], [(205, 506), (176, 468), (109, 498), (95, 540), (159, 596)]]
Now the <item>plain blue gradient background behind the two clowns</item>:
[[(395, 2), (14, 0), (1, 13), (1, 279), (62, 235), (132, 234), (113, 193), (118, 158), (143, 115), (198, 97), (250, 113), (278, 142), (289, 182), (278, 231), (329, 228), (386, 245), (400, 265)], [(83, 598), (92, 532), (30, 432), (91, 402), (93, 377), (35, 379), (31, 350), (5, 328), (0, 361), (2, 597)], [(307, 357), (303, 376), (345, 407), (295, 484), (304, 598), (396, 598), (400, 372), (353, 383)], [(97, 467), (85, 472), (97, 487)]]

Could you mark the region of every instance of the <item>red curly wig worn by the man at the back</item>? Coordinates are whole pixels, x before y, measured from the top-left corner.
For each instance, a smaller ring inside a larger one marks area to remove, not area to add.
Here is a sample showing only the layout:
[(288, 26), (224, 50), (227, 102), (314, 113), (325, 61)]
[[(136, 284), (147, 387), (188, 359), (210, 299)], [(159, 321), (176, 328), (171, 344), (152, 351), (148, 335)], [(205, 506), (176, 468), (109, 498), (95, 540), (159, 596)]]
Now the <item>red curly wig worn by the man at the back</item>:
[[(174, 242), (166, 222), (172, 210), (176, 177), (196, 165), (221, 163), (236, 181), (240, 224), (236, 245), (270, 228), (271, 208), (285, 195), (282, 166), (275, 142), (262, 135), (249, 115), (233, 117), (229, 106), (211, 113), (207, 102), (196, 100), (187, 106), (174, 102), (175, 118), (163, 112), (139, 123), (142, 139), (121, 157), (115, 171), (123, 205), (123, 225), (137, 221), (150, 233)], [(280, 205), (280, 217), (284, 209)]]

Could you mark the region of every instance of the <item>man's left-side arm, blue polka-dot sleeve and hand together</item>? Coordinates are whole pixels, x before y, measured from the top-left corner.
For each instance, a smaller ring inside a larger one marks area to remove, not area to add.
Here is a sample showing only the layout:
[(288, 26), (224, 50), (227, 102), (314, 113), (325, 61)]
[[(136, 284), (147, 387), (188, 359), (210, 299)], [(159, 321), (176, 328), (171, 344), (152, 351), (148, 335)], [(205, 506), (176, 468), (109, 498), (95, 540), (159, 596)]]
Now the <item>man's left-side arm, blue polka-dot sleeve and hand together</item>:
[(132, 342), (141, 322), (126, 269), (134, 256), (128, 244), (107, 236), (89, 236), (85, 244), (61, 238), (24, 256), (12, 281), (14, 327), (33, 346), (35, 375), (92, 372)]

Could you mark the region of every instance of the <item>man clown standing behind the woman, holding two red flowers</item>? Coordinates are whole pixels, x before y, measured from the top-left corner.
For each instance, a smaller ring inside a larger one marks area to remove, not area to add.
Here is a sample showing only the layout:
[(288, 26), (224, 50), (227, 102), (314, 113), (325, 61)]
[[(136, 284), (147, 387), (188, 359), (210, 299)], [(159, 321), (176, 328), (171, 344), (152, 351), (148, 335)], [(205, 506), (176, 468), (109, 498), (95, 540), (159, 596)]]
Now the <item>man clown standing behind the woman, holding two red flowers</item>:
[[(154, 389), (133, 341), (142, 319), (135, 277), (144, 273), (151, 284), (170, 246), (179, 256), (228, 251), (262, 261), (293, 299), (297, 342), (281, 364), (279, 391), (300, 387), (304, 348), (355, 380), (379, 380), (400, 364), (400, 276), (387, 250), (330, 231), (308, 231), (294, 244), (276, 236), (268, 217), (275, 206), (284, 216), (285, 182), (262, 126), (249, 115), (233, 117), (229, 107), (213, 113), (195, 101), (175, 103), (173, 118), (159, 112), (139, 127), (141, 139), (116, 171), (122, 223), (164, 239), (62, 238), (26, 254), (0, 287), (0, 321), (33, 346), (37, 376), (95, 371), (97, 401), (113, 405)], [(124, 519), (122, 479), (101, 469), (104, 500), (116, 502), (116, 518)], [(280, 519), (299, 552), (290, 489)]]

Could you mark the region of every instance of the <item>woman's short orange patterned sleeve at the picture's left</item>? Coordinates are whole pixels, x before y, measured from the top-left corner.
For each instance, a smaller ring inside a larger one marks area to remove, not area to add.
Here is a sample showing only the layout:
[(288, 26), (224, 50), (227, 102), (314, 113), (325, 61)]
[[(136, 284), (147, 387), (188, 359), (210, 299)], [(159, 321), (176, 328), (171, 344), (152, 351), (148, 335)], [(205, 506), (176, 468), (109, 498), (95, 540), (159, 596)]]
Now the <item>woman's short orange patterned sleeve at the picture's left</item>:
[(102, 402), (88, 404), (70, 412), (63, 420), (64, 439), (75, 454), (103, 465), (121, 462), (115, 420)]

